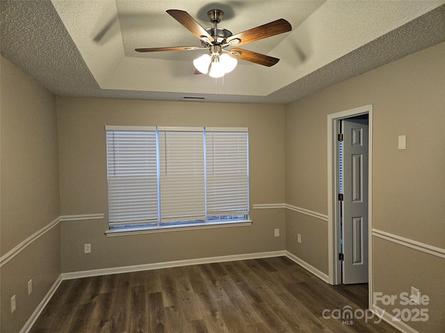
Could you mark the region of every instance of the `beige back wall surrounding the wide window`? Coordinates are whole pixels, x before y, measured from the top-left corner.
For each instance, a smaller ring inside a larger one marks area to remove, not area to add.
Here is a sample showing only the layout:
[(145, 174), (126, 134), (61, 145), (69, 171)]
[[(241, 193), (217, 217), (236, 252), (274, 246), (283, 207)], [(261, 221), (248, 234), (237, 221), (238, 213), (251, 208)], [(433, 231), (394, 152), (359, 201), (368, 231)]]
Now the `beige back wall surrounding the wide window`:
[[(284, 203), (284, 105), (58, 98), (62, 271), (284, 250), (283, 210), (251, 210), (251, 226), (106, 237), (106, 125), (249, 128), (250, 204)], [(282, 230), (274, 237), (274, 229)], [(92, 253), (83, 253), (83, 244)]]

